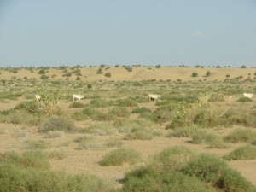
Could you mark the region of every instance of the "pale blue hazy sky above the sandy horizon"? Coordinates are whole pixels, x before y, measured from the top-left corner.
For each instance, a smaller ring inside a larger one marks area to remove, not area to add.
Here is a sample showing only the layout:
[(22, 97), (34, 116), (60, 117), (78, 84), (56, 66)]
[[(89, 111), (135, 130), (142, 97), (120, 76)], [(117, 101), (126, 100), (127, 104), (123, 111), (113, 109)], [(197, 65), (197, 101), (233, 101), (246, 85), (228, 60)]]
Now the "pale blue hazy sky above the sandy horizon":
[(0, 0), (0, 67), (256, 67), (256, 0)]

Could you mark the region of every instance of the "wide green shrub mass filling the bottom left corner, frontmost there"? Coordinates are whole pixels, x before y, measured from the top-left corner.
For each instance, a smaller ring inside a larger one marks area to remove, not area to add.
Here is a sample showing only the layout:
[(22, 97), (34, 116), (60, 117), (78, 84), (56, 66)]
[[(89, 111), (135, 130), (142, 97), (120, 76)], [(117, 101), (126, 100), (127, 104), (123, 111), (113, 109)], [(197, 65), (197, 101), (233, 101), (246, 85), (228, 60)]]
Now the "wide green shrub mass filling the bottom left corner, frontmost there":
[(94, 192), (113, 191), (109, 183), (90, 174), (68, 175), (66, 172), (27, 169), (11, 164), (0, 164), (0, 192)]

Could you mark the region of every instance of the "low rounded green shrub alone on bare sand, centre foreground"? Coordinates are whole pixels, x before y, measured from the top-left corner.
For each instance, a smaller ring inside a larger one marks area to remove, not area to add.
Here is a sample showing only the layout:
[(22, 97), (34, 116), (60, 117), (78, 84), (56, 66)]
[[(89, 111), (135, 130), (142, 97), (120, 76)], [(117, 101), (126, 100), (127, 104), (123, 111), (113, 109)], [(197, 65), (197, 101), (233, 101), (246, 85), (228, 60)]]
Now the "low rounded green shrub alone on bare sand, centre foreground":
[(130, 148), (119, 148), (105, 154), (100, 162), (102, 166), (122, 166), (124, 163), (136, 164), (142, 160), (141, 154)]

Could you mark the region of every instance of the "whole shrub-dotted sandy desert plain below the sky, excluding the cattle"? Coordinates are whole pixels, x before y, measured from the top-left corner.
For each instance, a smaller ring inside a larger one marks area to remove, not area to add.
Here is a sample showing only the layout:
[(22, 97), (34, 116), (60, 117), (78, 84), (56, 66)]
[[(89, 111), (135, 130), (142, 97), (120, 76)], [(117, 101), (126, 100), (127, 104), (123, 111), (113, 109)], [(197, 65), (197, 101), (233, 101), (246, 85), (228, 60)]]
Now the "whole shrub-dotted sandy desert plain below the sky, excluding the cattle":
[(255, 69), (224, 68), (0, 68), (0, 191), (255, 191)]

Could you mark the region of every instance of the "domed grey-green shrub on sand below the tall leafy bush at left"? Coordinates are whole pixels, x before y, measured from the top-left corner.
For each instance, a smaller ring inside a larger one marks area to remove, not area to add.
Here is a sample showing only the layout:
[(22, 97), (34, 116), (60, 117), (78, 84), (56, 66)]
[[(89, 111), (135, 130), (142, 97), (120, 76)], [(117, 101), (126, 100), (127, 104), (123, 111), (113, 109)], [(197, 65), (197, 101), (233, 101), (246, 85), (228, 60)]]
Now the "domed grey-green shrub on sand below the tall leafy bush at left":
[(39, 131), (41, 132), (49, 132), (49, 131), (72, 132), (76, 130), (77, 128), (74, 125), (73, 120), (63, 116), (56, 116), (56, 117), (50, 118), (39, 129)]

